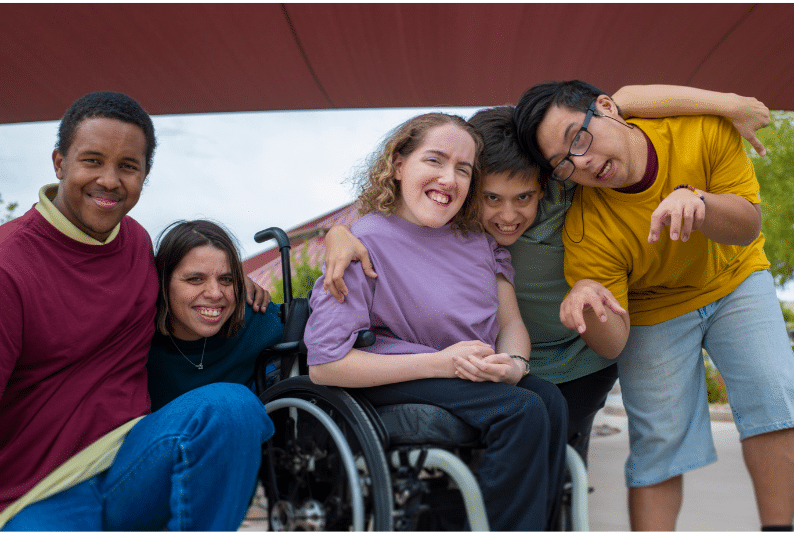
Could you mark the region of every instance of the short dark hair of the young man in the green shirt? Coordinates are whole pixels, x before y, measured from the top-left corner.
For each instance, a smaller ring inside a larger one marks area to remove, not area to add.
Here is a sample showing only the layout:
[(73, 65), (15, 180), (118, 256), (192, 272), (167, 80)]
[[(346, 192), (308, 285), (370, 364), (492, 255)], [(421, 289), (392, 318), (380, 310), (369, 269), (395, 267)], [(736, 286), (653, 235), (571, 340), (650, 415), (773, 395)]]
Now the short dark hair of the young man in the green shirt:
[(481, 175), (508, 173), (510, 178), (537, 177), (545, 190), (547, 174), (521, 150), (513, 112), (513, 106), (495, 106), (479, 110), (469, 119), (485, 142), (480, 153)]

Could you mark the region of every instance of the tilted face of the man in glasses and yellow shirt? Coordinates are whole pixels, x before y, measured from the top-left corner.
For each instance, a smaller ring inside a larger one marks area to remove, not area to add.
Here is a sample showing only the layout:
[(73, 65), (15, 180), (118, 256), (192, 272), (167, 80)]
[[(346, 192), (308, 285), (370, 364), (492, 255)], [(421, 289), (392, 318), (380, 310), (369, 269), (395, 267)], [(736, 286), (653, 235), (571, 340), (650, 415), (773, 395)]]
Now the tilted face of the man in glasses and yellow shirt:
[[(571, 180), (606, 188), (625, 188), (639, 182), (645, 171), (644, 137), (625, 124), (606, 95), (596, 100), (596, 112), (587, 126), (593, 136), (590, 148), (584, 155), (568, 157), (576, 167)], [(538, 126), (537, 140), (552, 167), (568, 154), (584, 118), (585, 112), (557, 105), (546, 112)]]

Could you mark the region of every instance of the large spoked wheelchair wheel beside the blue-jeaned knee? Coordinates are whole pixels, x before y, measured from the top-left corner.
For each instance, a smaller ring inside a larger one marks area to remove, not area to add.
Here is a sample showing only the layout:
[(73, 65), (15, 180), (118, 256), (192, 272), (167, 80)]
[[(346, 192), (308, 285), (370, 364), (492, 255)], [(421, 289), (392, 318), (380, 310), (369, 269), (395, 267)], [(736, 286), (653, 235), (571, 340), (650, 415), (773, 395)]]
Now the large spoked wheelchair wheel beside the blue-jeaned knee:
[(297, 377), (260, 399), (276, 429), (260, 472), (271, 530), (392, 530), (381, 440), (349, 393)]

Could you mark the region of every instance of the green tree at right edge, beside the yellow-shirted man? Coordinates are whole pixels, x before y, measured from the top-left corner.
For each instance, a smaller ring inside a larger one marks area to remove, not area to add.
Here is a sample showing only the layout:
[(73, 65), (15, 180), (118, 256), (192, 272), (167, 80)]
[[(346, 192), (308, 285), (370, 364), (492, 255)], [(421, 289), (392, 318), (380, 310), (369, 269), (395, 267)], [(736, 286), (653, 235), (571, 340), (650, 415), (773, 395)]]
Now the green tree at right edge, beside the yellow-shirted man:
[(764, 250), (775, 283), (794, 280), (794, 112), (772, 112), (772, 124), (758, 132), (767, 156), (753, 157), (761, 185)]

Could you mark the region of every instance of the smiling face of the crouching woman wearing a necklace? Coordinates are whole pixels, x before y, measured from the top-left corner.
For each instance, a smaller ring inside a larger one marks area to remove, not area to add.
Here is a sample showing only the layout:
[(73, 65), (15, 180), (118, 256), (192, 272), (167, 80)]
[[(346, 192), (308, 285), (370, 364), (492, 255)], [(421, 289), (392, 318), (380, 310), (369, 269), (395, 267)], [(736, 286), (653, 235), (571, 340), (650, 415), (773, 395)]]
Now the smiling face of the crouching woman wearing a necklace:
[(234, 279), (226, 252), (191, 249), (177, 265), (168, 289), (174, 337), (194, 341), (217, 334), (234, 313)]

